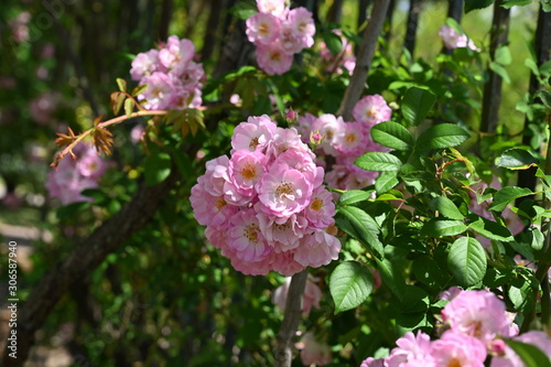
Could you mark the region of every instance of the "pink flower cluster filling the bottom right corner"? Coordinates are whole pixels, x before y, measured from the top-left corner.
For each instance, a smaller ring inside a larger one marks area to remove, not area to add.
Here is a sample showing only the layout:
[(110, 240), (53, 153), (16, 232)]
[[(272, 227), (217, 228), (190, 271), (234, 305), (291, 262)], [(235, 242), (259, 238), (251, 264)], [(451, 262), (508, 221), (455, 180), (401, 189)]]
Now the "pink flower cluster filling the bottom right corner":
[(488, 291), (463, 291), (456, 288), (444, 292), (450, 302), (442, 311), (444, 332), (440, 338), (409, 332), (399, 338), (397, 347), (387, 358), (363, 361), (361, 367), (406, 366), (472, 366), (484, 367), (491, 356), (490, 367), (522, 367), (518, 355), (501, 337), (529, 343), (547, 355), (551, 353), (551, 337), (543, 332), (518, 335), (512, 315), (505, 311), (505, 303)]

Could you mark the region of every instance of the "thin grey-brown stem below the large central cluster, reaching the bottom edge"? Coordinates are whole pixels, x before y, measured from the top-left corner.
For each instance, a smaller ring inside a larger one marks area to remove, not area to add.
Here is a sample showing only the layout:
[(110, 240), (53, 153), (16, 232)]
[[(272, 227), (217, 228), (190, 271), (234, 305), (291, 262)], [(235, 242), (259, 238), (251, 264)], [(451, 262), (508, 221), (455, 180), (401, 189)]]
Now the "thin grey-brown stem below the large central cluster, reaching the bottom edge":
[(287, 294), (285, 314), (278, 334), (278, 345), (276, 346), (274, 367), (290, 367), (293, 360), (293, 337), (299, 327), (299, 321), (302, 313), (302, 299), (306, 288), (307, 270), (293, 276), (289, 292)]

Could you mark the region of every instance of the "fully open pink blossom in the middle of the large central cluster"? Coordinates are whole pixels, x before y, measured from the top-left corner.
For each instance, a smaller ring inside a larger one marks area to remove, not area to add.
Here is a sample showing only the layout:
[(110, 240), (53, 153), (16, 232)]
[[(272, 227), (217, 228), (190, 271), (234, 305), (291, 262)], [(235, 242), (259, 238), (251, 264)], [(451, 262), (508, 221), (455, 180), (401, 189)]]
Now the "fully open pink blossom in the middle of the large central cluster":
[(306, 207), (313, 185), (300, 171), (274, 164), (260, 179), (257, 191), (264, 213), (288, 217)]

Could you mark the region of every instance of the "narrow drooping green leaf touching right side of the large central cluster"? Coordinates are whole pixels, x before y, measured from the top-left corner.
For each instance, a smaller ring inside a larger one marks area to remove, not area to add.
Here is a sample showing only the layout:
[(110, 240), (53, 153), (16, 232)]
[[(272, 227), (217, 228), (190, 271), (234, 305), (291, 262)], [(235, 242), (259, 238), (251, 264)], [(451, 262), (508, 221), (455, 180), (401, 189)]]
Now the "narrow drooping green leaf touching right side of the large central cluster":
[(337, 213), (341, 215), (335, 218), (338, 228), (360, 241), (374, 256), (385, 257), (379, 225), (369, 214), (354, 206), (341, 207)]

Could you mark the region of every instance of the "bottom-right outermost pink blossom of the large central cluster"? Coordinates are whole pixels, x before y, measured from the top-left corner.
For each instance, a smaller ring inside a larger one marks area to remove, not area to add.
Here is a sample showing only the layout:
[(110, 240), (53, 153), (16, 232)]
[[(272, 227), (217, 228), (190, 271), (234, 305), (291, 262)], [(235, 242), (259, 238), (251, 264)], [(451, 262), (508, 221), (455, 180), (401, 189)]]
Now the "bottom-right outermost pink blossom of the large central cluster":
[(303, 267), (318, 268), (338, 259), (341, 241), (323, 229), (305, 235), (296, 248), (294, 259)]

